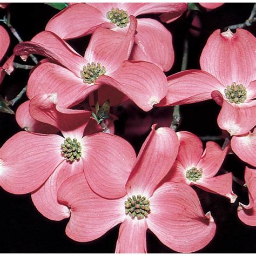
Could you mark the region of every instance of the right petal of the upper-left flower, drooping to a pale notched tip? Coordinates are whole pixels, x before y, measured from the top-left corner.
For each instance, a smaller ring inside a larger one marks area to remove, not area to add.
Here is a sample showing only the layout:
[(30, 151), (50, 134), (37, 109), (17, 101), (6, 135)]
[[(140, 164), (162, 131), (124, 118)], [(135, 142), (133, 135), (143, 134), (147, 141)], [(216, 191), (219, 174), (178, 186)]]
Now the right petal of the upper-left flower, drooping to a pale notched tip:
[(123, 62), (111, 77), (99, 77), (97, 82), (122, 91), (144, 111), (151, 110), (167, 91), (164, 73), (158, 66), (148, 62)]

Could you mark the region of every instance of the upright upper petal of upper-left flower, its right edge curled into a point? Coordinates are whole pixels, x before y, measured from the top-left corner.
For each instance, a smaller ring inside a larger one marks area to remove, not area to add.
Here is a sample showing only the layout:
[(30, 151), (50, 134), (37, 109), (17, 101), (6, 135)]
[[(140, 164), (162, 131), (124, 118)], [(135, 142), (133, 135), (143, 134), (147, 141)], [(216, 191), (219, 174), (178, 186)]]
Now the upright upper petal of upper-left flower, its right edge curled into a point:
[(130, 56), (137, 28), (136, 18), (130, 16), (129, 24), (126, 35), (98, 28), (91, 37), (84, 56), (89, 62), (102, 64), (106, 68), (106, 75), (117, 70)]

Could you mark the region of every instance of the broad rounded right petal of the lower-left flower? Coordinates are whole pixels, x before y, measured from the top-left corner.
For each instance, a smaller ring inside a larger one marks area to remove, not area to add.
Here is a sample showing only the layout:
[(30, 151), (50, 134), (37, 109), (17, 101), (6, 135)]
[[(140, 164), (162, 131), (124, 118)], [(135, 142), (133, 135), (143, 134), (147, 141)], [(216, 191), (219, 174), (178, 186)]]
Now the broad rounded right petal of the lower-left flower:
[(93, 191), (105, 198), (125, 196), (125, 184), (136, 159), (126, 140), (106, 133), (85, 136), (82, 158), (85, 176)]

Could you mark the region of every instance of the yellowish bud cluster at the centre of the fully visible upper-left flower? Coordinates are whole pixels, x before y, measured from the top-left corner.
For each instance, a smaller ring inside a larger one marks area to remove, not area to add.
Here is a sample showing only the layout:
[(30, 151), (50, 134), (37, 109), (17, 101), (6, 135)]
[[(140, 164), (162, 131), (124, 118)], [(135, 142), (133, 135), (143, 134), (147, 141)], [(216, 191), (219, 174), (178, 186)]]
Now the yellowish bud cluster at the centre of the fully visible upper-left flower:
[(84, 79), (84, 83), (92, 84), (95, 82), (99, 76), (104, 75), (106, 69), (104, 66), (101, 66), (98, 62), (97, 65), (95, 62), (87, 63), (86, 66), (83, 66), (83, 70), (81, 71), (81, 76)]

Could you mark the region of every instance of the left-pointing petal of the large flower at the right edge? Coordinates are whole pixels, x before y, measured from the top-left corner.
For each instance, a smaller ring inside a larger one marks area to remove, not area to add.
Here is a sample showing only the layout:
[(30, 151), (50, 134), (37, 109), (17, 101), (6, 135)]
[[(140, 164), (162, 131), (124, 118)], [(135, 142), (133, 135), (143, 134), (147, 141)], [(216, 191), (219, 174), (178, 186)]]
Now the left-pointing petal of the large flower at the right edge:
[(168, 91), (158, 106), (181, 105), (211, 99), (211, 92), (223, 90), (212, 75), (201, 70), (186, 70), (167, 77)]

